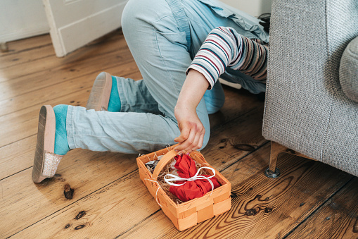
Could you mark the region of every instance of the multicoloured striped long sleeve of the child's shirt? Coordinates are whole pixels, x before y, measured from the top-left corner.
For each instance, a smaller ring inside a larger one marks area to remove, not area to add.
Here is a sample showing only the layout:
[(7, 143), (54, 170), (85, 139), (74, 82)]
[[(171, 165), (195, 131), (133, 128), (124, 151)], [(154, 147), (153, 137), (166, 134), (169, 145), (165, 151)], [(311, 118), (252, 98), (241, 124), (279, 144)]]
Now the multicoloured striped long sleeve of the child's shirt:
[(202, 73), (210, 83), (209, 90), (226, 67), (266, 82), (268, 47), (260, 39), (239, 35), (231, 27), (217, 27), (200, 47), (189, 69)]

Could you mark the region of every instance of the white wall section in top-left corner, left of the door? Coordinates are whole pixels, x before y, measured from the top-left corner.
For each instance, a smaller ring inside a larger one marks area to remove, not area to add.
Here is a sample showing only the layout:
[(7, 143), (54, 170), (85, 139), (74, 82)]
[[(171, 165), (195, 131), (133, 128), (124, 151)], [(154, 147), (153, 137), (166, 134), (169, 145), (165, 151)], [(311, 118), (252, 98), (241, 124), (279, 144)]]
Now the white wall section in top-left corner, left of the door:
[(49, 32), (42, 0), (0, 1), (0, 42)]

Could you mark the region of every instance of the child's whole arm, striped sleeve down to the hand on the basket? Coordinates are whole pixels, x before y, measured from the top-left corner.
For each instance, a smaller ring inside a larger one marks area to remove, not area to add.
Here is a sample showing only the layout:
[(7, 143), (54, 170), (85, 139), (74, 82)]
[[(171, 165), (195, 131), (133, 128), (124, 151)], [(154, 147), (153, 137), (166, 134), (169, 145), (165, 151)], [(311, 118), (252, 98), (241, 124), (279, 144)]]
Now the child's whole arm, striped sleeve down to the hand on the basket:
[(211, 89), (226, 67), (250, 75), (265, 82), (267, 76), (268, 48), (255, 40), (239, 35), (231, 27), (217, 27), (210, 32), (188, 68), (177, 106), (177, 118), (181, 135), (176, 149), (191, 152), (203, 145), (205, 129), (196, 114), (205, 90)]

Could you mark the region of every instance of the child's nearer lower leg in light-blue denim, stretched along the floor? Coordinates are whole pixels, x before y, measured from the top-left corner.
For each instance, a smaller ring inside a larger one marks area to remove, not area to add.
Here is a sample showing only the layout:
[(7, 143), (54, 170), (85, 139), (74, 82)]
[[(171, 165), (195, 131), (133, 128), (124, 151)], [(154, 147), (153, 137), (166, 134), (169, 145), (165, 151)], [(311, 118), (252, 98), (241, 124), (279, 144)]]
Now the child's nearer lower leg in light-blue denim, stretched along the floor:
[(170, 117), (68, 106), (67, 135), (71, 149), (153, 152), (174, 145), (174, 137), (179, 134), (177, 122)]

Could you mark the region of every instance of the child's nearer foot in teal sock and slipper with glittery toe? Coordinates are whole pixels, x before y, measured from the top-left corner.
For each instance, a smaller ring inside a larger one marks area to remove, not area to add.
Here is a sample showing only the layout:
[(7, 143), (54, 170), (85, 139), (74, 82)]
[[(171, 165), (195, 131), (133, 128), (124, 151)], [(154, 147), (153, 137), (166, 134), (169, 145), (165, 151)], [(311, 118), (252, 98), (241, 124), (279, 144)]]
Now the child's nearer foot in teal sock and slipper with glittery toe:
[(40, 183), (45, 178), (52, 178), (68, 147), (66, 133), (66, 116), (68, 106), (58, 105), (52, 108), (42, 106), (39, 114), (37, 145), (34, 154), (32, 180)]

